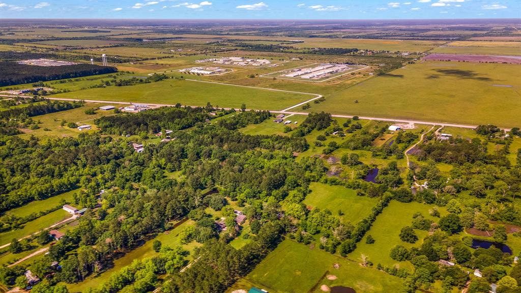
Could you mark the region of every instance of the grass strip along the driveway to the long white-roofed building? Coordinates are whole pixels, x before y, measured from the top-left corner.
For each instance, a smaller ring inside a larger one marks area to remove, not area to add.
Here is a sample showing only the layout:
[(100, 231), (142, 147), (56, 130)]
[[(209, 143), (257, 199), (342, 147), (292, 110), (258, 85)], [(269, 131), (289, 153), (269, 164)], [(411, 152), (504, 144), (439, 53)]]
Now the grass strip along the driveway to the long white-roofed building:
[(23, 225), (23, 228), (6, 231), (4, 233), (0, 233), (0, 245), (4, 245), (6, 243), (11, 242), (14, 238), (22, 238), (24, 236), (28, 236), (37, 231), (40, 231), (48, 226), (51, 226), (55, 223), (60, 222), (66, 218), (70, 217), (70, 214), (64, 210), (56, 210), (52, 213), (48, 213), (44, 216), (34, 219), (31, 222), (28, 222)]

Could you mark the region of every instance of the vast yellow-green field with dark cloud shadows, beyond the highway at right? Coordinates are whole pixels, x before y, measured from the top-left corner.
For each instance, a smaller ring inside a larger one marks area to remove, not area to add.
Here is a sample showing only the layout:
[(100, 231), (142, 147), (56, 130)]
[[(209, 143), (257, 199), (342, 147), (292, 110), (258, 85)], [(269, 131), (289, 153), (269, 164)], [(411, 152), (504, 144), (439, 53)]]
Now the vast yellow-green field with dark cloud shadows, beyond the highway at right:
[(407, 65), (326, 96), (312, 110), (516, 127), (521, 124), (521, 79), (515, 74), (519, 68), (464, 62)]

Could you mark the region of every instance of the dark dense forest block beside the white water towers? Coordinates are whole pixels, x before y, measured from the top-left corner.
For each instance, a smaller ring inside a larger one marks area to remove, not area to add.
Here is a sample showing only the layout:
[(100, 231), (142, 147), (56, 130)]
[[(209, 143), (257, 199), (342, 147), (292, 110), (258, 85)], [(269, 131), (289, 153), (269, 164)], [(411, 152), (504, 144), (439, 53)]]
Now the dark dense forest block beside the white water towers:
[(0, 62), (0, 86), (109, 74), (117, 71), (115, 67), (91, 64), (34, 66), (16, 62)]

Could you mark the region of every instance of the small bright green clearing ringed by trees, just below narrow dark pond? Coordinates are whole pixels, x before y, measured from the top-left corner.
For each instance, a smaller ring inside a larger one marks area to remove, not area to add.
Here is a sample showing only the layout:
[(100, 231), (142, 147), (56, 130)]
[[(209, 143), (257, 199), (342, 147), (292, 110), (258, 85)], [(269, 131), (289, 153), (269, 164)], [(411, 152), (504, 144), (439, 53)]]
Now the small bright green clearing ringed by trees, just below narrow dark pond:
[(356, 191), (343, 186), (330, 186), (313, 182), (309, 185), (312, 190), (306, 196), (304, 203), (307, 206), (328, 209), (334, 215), (341, 210), (342, 222), (356, 224), (371, 212), (371, 208), (378, 202), (377, 199), (356, 196)]

